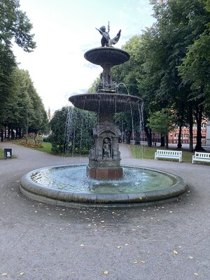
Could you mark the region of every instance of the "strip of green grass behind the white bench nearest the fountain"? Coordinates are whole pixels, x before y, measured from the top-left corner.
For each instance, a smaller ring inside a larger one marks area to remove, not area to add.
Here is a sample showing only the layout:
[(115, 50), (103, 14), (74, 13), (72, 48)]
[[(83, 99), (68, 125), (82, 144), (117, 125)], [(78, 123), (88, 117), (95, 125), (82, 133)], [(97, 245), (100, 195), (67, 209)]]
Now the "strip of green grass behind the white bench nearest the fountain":
[[(139, 145), (134, 145), (134, 146), (130, 145), (130, 149), (132, 151), (132, 155), (134, 156), (134, 158), (154, 160), (155, 159), (155, 152), (157, 151), (157, 149), (161, 149), (161, 148), (139, 146)], [(172, 149), (172, 150), (174, 150), (174, 149)], [(187, 150), (181, 150), (181, 151), (182, 151), (182, 158), (183, 158), (182, 161), (191, 163), (193, 153), (190, 153), (190, 151), (187, 151)], [(158, 160), (162, 160), (162, 159), (158, 159)], [(165, 159), (163, 159), (163, 160), (165, 160)], [(167, 159), (167, 160), (173, 160), (173, 159)]]

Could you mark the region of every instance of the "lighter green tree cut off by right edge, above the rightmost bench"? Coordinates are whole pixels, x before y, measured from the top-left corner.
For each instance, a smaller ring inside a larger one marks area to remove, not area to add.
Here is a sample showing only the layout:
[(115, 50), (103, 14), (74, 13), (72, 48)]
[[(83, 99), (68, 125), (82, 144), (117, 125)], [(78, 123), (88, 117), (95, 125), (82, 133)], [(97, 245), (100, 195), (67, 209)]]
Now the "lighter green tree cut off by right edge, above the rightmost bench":
[[(210, 12), (210, 1), (203, 0), (206, 9)], [(209, 13), (210, 15), (210, 13)], [(209, 18), (210, 20), (210, 18)], [(209, 111), (210, 102), (210, 22), (207, 22), (206, 29), (195, 38), (194, 42), (188, 46), (186, 57), (178, 67), (183, 78), (183, 83), (190, 85), (192, 93), (190, 100), (195, 104), (195, 119), (197, 123), (197, 144), (195, 151), (203, 151), (202, 148), (202, 119), (203, 114)]]

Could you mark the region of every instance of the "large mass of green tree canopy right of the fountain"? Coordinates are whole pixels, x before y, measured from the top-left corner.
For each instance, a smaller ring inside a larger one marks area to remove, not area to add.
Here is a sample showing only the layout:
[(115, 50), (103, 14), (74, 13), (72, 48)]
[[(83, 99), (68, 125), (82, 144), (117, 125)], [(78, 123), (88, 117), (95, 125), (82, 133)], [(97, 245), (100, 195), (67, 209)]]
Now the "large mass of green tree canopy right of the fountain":
[[(131, 59), (116, 66), (113, 78), (130, 94), (144, 100), (144, 128), (162, 109), (172, 110), (176, 125), (193, 127), (197, 120), (197, 150), (201, 123), (209, 116), (209, 0), (151, 0), (156, 22), (123, 48)], [(193, 138), (193, 130), (191, 139)]]

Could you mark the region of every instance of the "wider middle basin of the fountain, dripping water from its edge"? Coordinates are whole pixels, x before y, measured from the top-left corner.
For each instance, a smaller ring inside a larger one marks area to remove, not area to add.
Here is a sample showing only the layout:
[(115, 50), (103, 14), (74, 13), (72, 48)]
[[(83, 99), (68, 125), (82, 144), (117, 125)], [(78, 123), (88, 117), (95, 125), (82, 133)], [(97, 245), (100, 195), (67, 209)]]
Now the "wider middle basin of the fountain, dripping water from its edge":
[(69, 101), (79, 109), (93, 112), (119, 113), (138, 110), (141, 99), (129, 94), (85, 93), (69, 97)]

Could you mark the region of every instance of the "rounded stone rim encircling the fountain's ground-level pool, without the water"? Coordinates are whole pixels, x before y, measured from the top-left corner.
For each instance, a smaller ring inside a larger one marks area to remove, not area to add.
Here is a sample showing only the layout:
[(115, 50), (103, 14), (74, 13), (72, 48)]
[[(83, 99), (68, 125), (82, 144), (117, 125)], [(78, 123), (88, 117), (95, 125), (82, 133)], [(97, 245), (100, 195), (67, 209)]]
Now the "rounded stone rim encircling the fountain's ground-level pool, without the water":
[(20, 180), (20, 191), (32, 200), (38, 202), (55, 204), (64, 207), (137, 207), (145, 204), (155, 204), (160, 202), (167, 202), (169, 200), (176, 200), (179, 195), (188, 190), (186, 182), (177, 175), (169, 172), (163, 172), (158, 169), (151, 169), (147, 167), (139, 167), (132, 165), (123, 165), (122, 167), (136, 168), (149, 170), (151, 172), (158, 172), (170, 176), (176, 180), (176, 183), (169, 188), (162, 190), (152, 190), (138, 193), (80, 193), (77, 191), (59, 190), (44, 187), (39, 183), (35, 183), (31, 179), (31, 175), (43, 169), (62, 168), (62, 167), (83, 167), (81, 165), (53, 165), (31, 170), (24, 174)]

